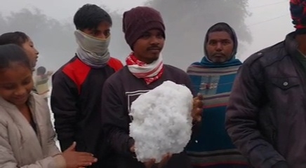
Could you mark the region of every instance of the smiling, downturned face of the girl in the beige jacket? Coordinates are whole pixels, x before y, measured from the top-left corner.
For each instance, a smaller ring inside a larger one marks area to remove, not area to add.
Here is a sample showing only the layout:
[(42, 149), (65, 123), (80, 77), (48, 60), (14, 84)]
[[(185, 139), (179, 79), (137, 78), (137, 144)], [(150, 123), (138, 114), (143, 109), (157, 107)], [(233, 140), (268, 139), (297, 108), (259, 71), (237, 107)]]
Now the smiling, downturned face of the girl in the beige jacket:
[(32, 70), (13, 62), (6, 69), (0, 69), (0, 96), (16, 106), (23, 105), (33, 87)]

